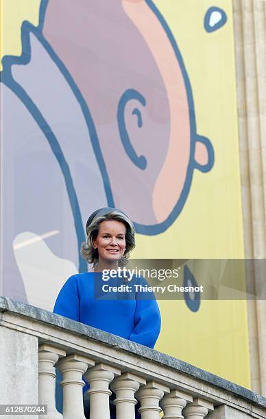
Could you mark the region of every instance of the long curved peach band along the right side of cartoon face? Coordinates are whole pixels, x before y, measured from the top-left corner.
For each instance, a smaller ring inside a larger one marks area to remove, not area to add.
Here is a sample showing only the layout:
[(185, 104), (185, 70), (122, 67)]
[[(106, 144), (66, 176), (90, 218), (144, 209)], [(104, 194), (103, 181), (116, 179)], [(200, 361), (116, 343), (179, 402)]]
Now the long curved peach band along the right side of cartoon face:
[(168, 94), (171, 130), (165, 164), (153, 192), (158, 223), (169, 216), (178, 201), (189, 164), (190, 120), (186, 88), (178, 60), (165, 30), (144, 1), (122, 1), (123, 8), (143, 35), (158, 66)]

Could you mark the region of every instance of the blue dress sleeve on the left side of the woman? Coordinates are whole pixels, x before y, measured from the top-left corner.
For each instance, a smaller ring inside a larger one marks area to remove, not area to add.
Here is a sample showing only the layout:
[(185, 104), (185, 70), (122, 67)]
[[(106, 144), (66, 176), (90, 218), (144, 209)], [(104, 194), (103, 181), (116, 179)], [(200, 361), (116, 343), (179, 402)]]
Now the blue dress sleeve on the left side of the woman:
[(75, 275), (70, 277), (62, 286), (53, 307), (53, 313), (80, 322), (80, 297)]

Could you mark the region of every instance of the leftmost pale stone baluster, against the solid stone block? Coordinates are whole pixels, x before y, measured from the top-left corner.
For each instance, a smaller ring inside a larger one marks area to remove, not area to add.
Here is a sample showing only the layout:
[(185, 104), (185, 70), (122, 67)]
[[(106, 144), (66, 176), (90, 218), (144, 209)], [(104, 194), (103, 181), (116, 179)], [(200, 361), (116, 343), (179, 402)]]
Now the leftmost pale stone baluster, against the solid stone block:
[(56, 410), (56, 368), (54, 364), (66, 351), (43, 344), (39, 347), (39, 404), (47, 405), (47, 419), (60, 419), (62, 415)]

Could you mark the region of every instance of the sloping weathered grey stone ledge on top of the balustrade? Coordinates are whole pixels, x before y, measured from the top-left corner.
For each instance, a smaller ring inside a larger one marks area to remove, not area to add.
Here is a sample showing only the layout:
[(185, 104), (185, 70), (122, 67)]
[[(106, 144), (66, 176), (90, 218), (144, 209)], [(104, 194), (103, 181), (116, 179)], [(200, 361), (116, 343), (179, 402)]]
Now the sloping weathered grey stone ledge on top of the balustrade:
[(139, 355), (145, 359), (157, 362), (162, 366), (171, 367), (178, 372), (188, 374), (191, 377), (195, 377), (208, 384), (215, 385), (222, 390), (226, 390), (226, 392), (230, 392), (234, 394), (234, 396), (244, 398), (245, 401), (255, 403), (260, 407), (266, 407), (265, 397), (260, 396), (251, 390), (247, 390), (246, 388), (241, 387), (241, 385), (234, 384), (231, 381), (222, 379), (215, 374), (211, 374), (210, 372), (197, 368), (185, 361), (180, 361), (180, 359), (176, 359), (170, 355), (166, 355), (165, 353), (155, 351), (147, 346), (131, 342), (130, 340), (120, 338), (117, 335), (112, 335), (112, 333), (95, 329), (95, 327), (84, 325), (83, 323), (59, 316), (58, 314), (53, 314), (45, 309), (40, 309), (38, 307), (34, 307), (33, 305), (28, 305), (26, 303), (21, 303), (21, 301), (14, 301), (8, 297), (1, 296), (0, 312), (19, 314), (20, 316), (39, 320), (40, 322), (60, 327), (65, 330), (78, 333), (79, 335), (84, 335), (87, 338), (103, 342), (104, 344), (108, 344), (114, 348), (119, 348), (123, 351), (128, 351), (134, 355)]

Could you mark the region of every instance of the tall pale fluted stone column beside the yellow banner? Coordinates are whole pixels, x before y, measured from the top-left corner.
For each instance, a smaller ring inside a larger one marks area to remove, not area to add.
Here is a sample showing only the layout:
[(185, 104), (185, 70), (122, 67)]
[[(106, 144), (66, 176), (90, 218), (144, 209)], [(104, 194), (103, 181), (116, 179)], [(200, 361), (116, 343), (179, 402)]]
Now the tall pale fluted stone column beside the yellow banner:
[[(266, 3), (233, 0), (245, 257), (266, 259)], [(261, 286), (256, 266), (250, 281)], [(252, 389), (266, 396), (265, 299), (248, 301)]]

